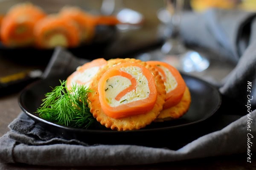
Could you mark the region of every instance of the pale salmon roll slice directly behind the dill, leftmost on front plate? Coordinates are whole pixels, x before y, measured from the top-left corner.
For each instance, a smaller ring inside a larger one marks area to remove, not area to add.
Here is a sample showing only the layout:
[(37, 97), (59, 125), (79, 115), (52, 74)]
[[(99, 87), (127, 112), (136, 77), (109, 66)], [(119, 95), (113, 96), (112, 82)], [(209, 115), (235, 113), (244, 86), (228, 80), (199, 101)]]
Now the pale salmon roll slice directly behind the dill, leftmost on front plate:
[(71, 90), (74, 85), (85, 85), (90, 88), (93, 77), (105, 65), (107, 65), (107, 61), (99, 58), (79, 66), (73, 74), (67, 77), (67, 89)]

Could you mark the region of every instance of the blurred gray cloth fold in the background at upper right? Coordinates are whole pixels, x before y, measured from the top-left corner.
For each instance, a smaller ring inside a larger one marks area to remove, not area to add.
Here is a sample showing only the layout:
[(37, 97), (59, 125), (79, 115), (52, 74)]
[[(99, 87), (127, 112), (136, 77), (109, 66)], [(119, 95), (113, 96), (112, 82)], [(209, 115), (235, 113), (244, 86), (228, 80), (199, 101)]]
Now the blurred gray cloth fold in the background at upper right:
[(207, 48), (216, 57), (237, 63), (256, 38), (254, 17), (252, 12), (218, 8), (186, 12), (180, 23), (181, 37), (189, 45)]

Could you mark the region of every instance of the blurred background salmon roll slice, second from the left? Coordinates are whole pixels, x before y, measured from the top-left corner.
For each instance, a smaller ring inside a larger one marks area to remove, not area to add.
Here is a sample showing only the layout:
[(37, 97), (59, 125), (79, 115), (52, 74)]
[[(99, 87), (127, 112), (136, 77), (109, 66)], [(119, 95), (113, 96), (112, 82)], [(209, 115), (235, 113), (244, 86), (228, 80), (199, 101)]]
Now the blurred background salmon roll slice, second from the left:
[(58, 14), (50, 14), (38, 21), (34, 28), (38, 48), (62, 46), (73, 48), (79, 45), (79, 28), (72, 20)]

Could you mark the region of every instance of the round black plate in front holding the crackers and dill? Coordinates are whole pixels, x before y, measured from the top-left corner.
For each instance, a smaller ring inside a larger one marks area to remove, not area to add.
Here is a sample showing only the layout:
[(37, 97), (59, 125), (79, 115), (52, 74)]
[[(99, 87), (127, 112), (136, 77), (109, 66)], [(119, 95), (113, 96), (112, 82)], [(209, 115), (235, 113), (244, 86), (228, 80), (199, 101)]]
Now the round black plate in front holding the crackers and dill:
[(19, 104), (21, 109), (38, 125), (66, 139), (79, 139), (92, 144), (143, 144), (158, 146), (159, 144), (166, 143), (167, 145), (174, 141), (170, 142), (165, 139), (164, 142), (159, 143), (154, 142), (154, 139), (157, 139), (156, 137), (165, 138), (166, 134), (180, 136), (180, 133), (188, 133), (188, 129), (192, 128), (191, 125), (196, 125), (210, 118), (221, 105), (221, 95), (215, 87), (201, 79), (188, 75), (183, 75), (183, 78), (190, 89), (192, 97), (189, 111), (180, 119), (152, 122), (151, 125), (140, 130), (115, 131), (103, 127), (98, 122), (85, 130), (64, 127), (38, 117), (34, 112), (40, 106), (41, 100), (45, 98), (44, 94), (51, 91), (50, 86), (60, 85), (59, 79), (66, 79), (66, 77), (44, 79), (32, 83), (21, 92)]

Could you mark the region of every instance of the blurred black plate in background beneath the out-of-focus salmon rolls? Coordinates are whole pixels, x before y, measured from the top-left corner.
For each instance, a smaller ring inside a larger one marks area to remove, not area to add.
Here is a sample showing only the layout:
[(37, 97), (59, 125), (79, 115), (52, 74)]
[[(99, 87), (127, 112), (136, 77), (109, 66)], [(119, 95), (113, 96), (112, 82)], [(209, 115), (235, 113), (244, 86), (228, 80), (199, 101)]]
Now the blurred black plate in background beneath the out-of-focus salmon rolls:
[[(118, 31), (116, 26), (96, 26), (93, 40), (75, 48), (67, 48), (76, 57), (95, 59), (101, 55), (116, 40)], [(47, 64), (52, 57), (53, 49), (39, 49), (34, 47), (9, 48), (0, 43), (0, 56), (26, 65)]]

